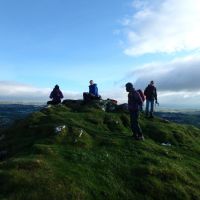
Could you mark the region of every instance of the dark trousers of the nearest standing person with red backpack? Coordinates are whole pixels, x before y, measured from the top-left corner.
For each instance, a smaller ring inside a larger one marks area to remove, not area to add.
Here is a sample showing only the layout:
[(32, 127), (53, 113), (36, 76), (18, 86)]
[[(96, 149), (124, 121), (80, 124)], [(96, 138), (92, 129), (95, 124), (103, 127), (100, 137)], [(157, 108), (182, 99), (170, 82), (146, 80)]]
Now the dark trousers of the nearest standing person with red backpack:
[(142, 137), (142, 130), (138, 123), (139, 111), (130, 112), (131, 129), (135, 137)]

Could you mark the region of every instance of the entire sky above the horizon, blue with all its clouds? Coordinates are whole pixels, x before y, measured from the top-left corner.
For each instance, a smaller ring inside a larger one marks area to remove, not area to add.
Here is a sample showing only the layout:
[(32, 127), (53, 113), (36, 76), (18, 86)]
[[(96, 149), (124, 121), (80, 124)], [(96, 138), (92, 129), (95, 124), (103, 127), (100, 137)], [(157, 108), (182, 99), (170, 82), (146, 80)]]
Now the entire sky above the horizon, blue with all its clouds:
[(55, 84), (80, 97), (94, 79), (104, 97), (125, 101), (127, 81), (144, 89), (154, 79), (164, 104), (196, 105), (198, 3), (0, 0), (0, 100), (46, 99)]

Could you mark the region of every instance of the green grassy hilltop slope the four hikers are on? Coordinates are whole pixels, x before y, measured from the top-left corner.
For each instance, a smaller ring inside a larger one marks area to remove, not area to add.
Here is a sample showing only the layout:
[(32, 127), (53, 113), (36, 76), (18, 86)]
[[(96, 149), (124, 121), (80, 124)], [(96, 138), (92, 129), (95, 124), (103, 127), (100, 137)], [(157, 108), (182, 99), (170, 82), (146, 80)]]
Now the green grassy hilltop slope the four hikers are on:
[(200, 199), (200, 130), (140, 122), (145, 141), (130, 137), (128, 113), (97, 105), (32, 114), (4, 132), (0, 199)]

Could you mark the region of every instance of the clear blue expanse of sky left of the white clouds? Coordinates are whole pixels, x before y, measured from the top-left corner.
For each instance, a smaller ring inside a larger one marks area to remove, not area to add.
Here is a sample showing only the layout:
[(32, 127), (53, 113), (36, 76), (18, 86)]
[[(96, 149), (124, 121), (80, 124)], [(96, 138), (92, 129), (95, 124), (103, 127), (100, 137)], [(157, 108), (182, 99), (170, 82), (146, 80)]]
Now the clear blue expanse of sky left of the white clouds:
[(89, 79), (118, 77), (127, 58), (113, 32), (128, 3), (1, 1), (1, 79), (79, 90)]

